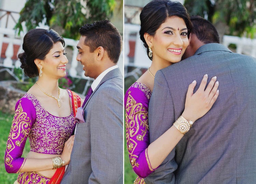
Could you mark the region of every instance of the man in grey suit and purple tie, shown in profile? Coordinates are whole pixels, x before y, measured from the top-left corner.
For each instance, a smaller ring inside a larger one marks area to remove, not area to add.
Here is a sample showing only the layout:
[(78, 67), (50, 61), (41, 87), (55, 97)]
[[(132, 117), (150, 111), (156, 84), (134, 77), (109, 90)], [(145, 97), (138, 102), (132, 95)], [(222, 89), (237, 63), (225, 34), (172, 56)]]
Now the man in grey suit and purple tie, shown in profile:
[(123, 183), (123, 76), (117, 66), (122, 37), (108, 20), (85, 24), (79, 32), (76, 59), (95, 80), (61, 183)]

